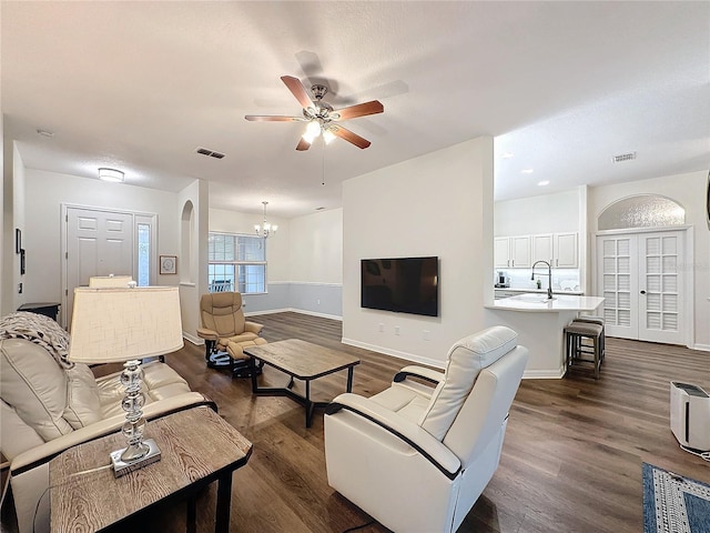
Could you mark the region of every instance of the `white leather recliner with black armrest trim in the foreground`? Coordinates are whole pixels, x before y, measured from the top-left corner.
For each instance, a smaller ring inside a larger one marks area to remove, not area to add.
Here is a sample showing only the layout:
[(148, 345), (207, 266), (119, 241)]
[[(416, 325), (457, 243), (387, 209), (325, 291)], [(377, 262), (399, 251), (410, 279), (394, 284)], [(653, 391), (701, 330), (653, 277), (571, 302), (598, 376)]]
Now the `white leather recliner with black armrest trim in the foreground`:
[(456, 531), (498, 467), (527, 356), (494, 326), (455, 343), (444, 373), (406, 366), (369, 399), (341, 394), (325, 416), (328, 484), (395, 532)]

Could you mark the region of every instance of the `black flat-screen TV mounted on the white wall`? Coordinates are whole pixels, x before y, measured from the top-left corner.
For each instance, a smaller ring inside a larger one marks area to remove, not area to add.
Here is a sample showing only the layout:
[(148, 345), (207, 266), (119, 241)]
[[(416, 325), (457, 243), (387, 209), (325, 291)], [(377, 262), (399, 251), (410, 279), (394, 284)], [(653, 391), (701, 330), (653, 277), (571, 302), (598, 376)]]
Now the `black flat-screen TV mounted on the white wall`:
[(361, 280), (363, 308), (439, 314), (438, 258), (363, 259)]

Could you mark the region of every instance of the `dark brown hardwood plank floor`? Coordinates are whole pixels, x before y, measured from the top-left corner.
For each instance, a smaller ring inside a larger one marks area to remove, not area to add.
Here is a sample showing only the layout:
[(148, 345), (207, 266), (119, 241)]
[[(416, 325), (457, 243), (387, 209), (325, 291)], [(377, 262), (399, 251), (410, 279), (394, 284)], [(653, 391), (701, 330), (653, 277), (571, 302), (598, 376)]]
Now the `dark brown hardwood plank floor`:
[[(300, 338), (358, 355), (353, 390), (366, 396), (387, 388), (395, 372), (410, 364), (341, 344), (337, 321), (298, 313), (252, 320), (264, 324), (270, 342)], [(234, 474), (232, 531), (339, 533), (369, 522), (327, 485), (322, 411), (306, 429), (301, 405), (287, 398), (253, 398), (248, 380), (206, 369), (202, 346), (186, 343), (168, 363), (210, 395), (220, 414), (254, 445), (247, 465)], [(278, 385), (287, 381), (270, 368), (263, 379)], [(671, 380), (710, 390), (710, 353), (607, 339), (599, 381), (581, 371), (562, 380), (524, 380), (510, 410), (500, 466), (459, 532), (637, 533), (642, 531), (642, 462), (710, 483), (710, 464), (681, 451), (670, 431)], [(344, 388), (345, 372), (312, 385), (318, 400)], [(199, 503), (200, 532), (214, 529), (213, 493)], [(184, 509), (170, 511), (176, 516)], [(387, 530), (375, 523), (359, 531)]]

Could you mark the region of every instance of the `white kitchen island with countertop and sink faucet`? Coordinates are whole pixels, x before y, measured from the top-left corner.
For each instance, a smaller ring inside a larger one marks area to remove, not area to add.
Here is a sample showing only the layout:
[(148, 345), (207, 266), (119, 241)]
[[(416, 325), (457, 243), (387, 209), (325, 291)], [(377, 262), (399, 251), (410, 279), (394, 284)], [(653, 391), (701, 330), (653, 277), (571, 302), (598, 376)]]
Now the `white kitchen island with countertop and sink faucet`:
[(529, 352), (524, 378), (559, 379), (565, 375), (564, 328), (579, 314), (597, 314), (604, 298), (529, 292), (486, 305), (486, 325), (507, 325), (518, 332), (518, 343)]

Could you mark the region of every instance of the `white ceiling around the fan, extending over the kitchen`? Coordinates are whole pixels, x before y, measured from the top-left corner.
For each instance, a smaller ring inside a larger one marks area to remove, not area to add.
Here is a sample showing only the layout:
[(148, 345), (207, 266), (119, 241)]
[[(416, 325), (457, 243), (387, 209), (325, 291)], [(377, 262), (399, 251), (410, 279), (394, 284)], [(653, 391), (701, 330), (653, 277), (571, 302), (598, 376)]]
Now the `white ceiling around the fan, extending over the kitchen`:
[[(710, 167), (707, 1), (1, 9), (6, 139), (29, 168), (113, 167), (171, 191), (202, 178), (212, 207), (267, 200), (290, 218), (339, 207), (343, 180), (478, 135), (496, 139), (497, 200)], [(336, 109), (382, 101), (383, 114), (344, 123), (372, 145), (296, 152), (302, 123), (244, 120), (298, 114), (284, 74), (325, 80)], [(611, 162), (626, 152), (637, 159)]]

